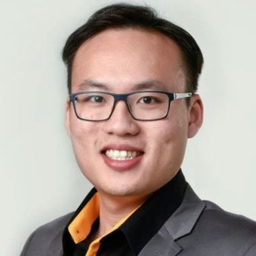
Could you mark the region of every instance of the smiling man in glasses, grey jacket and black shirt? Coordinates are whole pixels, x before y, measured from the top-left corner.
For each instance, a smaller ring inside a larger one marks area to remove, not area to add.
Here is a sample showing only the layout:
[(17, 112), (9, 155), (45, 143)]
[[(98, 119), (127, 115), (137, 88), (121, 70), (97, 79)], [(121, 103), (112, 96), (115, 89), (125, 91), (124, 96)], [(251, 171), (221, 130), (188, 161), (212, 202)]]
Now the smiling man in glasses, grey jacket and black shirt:
[(97, 11), (67, 40), (67, 131), (94, 188), (29, 255), (256, 255), (256, 223), (201, 201), (181, 172), (203, 120), (201, 51), (148, 7)]

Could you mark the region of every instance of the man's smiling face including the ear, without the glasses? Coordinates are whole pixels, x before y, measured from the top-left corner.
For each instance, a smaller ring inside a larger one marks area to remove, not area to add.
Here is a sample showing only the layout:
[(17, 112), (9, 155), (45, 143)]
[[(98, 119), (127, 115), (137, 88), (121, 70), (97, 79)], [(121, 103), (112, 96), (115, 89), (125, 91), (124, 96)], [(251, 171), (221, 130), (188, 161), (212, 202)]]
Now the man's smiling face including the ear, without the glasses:
[[(179, 47), (161, 33), (139, 29), (109, 29), (83, 43), (71, 81), (72, 93), (185, 92)], [(179, 170), (187, 138), (201, 126), (202, 111), (201, 99), (193, 95), (189, 107), (185, 99), (172, 101), (165, 119), (136, 121), (118, 101), (109, 120), (92, 122), (77, 119), (67, 102), (66, 125), (77, 163), (100, 193), (145, 197)], [(128, 154), (131, 159), (113, 159), (113, 151), (115, 157)]]

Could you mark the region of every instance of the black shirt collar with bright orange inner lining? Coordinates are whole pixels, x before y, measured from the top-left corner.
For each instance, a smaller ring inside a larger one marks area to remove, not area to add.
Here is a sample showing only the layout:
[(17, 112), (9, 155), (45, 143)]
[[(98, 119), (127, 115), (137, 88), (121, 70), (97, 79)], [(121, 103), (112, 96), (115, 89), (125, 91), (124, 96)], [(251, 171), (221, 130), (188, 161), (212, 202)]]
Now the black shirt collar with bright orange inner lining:
[[(126, 237), (129, 246), (135, 253), (157, 233), (163, 223), (179, 207), (185, 193), (186, 181), (181, 170), (163, 187), (155, 191), (139, 209), (117, 225)], [(69, 255), (69, 250), (75, 243), (85, 239), (95, 220), (99, 217), (99, 198), (97, 190), (91, 189), (75, 214), (69, 221), (63, 233), (63, 250)]]

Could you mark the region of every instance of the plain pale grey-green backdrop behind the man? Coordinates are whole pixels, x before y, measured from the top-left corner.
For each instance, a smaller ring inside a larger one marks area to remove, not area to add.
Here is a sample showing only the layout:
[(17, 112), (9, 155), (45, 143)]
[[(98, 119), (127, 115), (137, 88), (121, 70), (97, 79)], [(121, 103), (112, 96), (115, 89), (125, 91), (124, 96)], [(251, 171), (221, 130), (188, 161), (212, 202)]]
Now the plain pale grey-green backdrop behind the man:
[[(199, 43), (205, 119), (183, 172), (202, 199), (256, 219), (256, 2), (128, 2), (155, 7)], [(76, 209), (91, 188), (64, 127), (61, 49), (109, 3), (0, 0), (0, 255), (19, 255), (36, 227)]]

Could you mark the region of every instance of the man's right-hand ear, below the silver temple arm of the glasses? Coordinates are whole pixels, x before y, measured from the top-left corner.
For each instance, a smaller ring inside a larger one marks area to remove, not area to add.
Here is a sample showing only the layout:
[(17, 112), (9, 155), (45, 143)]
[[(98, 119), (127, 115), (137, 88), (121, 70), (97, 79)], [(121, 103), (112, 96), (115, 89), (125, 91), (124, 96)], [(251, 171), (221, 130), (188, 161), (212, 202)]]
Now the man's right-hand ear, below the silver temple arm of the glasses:
[(191, 97), (189, 103), (189, 127), (187, 137), (192, 138), (197, 134), (203, 123), (203, 102), (198, 94)]

